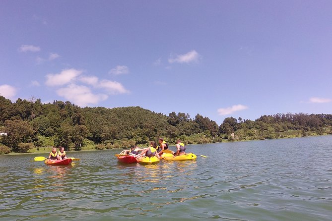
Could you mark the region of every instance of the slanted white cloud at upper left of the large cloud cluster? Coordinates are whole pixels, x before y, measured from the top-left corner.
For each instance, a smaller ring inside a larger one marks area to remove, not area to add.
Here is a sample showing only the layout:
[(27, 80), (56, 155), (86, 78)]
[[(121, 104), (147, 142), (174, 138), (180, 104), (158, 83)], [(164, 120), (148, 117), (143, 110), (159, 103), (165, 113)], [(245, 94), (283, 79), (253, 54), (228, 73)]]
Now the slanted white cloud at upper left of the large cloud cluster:
[(46, 75), (46, 85), (57, 86), (71, 83), (79, 76), (83, 71), (76, 69), (66, 69), (61, 71), (59, 74), (47, 74)]

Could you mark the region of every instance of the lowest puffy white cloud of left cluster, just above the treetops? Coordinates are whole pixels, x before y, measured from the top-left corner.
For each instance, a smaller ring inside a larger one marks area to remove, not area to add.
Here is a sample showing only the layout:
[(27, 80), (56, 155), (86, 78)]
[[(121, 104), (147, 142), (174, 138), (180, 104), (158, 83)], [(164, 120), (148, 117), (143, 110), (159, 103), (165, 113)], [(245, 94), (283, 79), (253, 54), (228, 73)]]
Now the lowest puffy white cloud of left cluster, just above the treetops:
[(93, 94), (90, 88), (75, 84), (69, 84), (65, 88), (58, 89), (57, 94), (80, 107), (85, 107), (88, 104), (98, 104), (108, 98), (105, 94)]

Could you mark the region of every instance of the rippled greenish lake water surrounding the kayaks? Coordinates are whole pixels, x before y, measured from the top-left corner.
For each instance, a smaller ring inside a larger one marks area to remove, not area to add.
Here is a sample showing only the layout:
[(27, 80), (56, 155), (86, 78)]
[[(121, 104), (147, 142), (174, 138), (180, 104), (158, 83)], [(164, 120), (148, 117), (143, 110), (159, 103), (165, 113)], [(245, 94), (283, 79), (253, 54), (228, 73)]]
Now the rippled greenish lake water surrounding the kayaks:
[(0, 156), (0, 220), (331, 221), (332, 136), (187, 150), (209, 158), (128, 166), (119, 150), (92, 151), (61, 167)]

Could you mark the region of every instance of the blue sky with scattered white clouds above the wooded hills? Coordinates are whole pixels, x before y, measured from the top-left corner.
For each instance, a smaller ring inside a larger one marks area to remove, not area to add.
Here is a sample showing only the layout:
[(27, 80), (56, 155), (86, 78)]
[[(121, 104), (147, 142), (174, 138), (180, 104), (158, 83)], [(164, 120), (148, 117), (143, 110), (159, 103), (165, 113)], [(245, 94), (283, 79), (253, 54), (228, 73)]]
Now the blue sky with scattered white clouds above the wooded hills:
[(255, 120), (332, 113), (330, 0), (1, 0), (0, 95)]

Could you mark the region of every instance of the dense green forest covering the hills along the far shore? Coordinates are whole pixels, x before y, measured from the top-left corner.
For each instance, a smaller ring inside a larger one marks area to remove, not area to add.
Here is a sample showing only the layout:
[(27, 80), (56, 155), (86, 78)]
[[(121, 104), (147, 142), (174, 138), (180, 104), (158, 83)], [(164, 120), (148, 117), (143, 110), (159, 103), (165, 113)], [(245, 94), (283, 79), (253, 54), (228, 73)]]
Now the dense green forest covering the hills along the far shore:
[(167, 115), (140, 107), (80, 108), (70, 102), (0, 96), (0, 154), (64, 146), (66, 150), (128, 148), (163, 137), (173, 144), (262, 140), (332, 134), (332, 114), (277, 113), (255, 121), (227, 117), (221, 125), (197, 114)]

